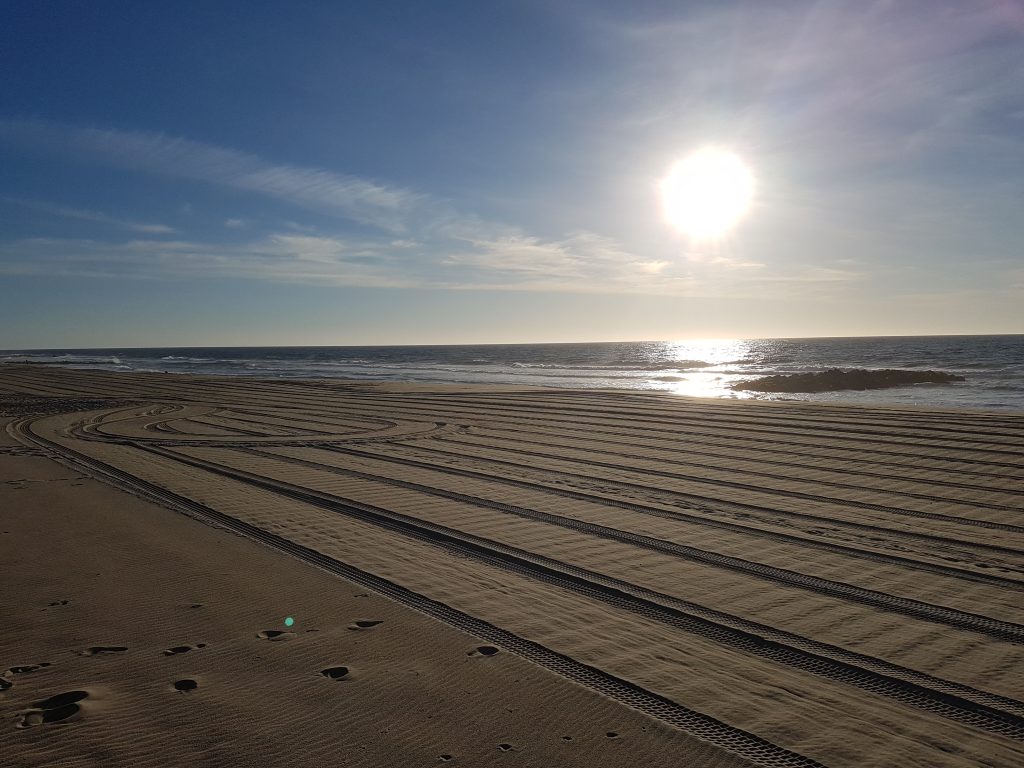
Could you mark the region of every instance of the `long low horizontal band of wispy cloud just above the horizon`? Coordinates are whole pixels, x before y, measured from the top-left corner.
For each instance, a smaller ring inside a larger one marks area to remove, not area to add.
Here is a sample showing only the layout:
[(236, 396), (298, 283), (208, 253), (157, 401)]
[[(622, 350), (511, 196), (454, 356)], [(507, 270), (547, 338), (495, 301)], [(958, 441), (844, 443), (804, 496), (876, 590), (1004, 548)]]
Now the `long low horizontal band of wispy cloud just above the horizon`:
[(0, 273), (191, 280), (232, 278), (358, 288), (541, 291), (669, 296), (792, 296), (862, 280), (852, 269), (786, 271), (650, 260), (593, 232), (559, 241), (518, 236), (463, 243), (403, 244), (291, 231), (243, 243), (34, 238), (0, 244)]

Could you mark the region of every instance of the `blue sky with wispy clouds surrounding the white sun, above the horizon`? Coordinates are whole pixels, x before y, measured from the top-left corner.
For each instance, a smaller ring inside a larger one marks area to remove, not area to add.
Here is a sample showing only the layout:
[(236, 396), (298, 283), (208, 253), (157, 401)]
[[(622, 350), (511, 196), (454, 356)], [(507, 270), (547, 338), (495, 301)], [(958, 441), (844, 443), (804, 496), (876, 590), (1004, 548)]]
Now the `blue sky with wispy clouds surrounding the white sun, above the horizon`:
[(0, 7), (0, 348), (1024, 333), (1022, 236), (1024, 0)]

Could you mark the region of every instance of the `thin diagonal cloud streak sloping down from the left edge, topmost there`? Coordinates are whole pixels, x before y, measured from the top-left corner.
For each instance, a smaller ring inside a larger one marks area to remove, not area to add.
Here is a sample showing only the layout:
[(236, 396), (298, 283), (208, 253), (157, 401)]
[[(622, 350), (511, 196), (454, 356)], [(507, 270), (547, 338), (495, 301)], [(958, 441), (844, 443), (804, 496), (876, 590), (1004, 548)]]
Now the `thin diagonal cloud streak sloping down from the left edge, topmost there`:
[(42, 120), (0, 120), (0, 140), (132, 171), (221, 184), (402, 231), (422, 198), (399, 187), (168, 136), (80, 128)]

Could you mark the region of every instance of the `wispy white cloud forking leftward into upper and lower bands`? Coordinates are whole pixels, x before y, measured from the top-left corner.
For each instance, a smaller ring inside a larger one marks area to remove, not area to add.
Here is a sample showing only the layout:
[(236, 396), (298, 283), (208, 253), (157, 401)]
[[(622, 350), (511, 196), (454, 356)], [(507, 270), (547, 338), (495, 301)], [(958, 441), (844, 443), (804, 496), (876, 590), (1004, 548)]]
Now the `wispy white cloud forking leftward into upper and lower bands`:
[(737, 254), (687, 258), (674, 252), (670, 239), (637, 249), (587, 229), (539, 234), (413, 191), (274, 165), (234, 150), (162, 134), (0, 120), (0, 140), (258, 191), (378, 228), (356, 236), (286, 223), (285, 231), (247, 238), (248, 220), (232, 217), (221, 219), (232, 233), (228, 243), (23, 240), (0, 244), (0, 269), (7, 273), (45, 268), (53, 274), (88, 275), (120, 269), (123, 276), (146, 279), (215, 275), (319, 286), (671, 296), (777, 294), (792, 286), (839, 285), (855, 279), (841, 279), (824, 265), (813, 271), (798, 263), (776, 265), (769, 272), (760, 261)]

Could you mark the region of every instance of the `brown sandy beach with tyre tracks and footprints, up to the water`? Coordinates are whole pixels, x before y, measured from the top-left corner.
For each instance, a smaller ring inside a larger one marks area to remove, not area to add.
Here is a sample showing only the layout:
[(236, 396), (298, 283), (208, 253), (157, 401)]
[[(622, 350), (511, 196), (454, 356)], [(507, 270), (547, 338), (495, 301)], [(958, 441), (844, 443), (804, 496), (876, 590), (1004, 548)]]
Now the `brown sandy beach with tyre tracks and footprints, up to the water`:
[(1024, 415), (41, 366), (0, 415), (0, 764), (1024, 764)]

